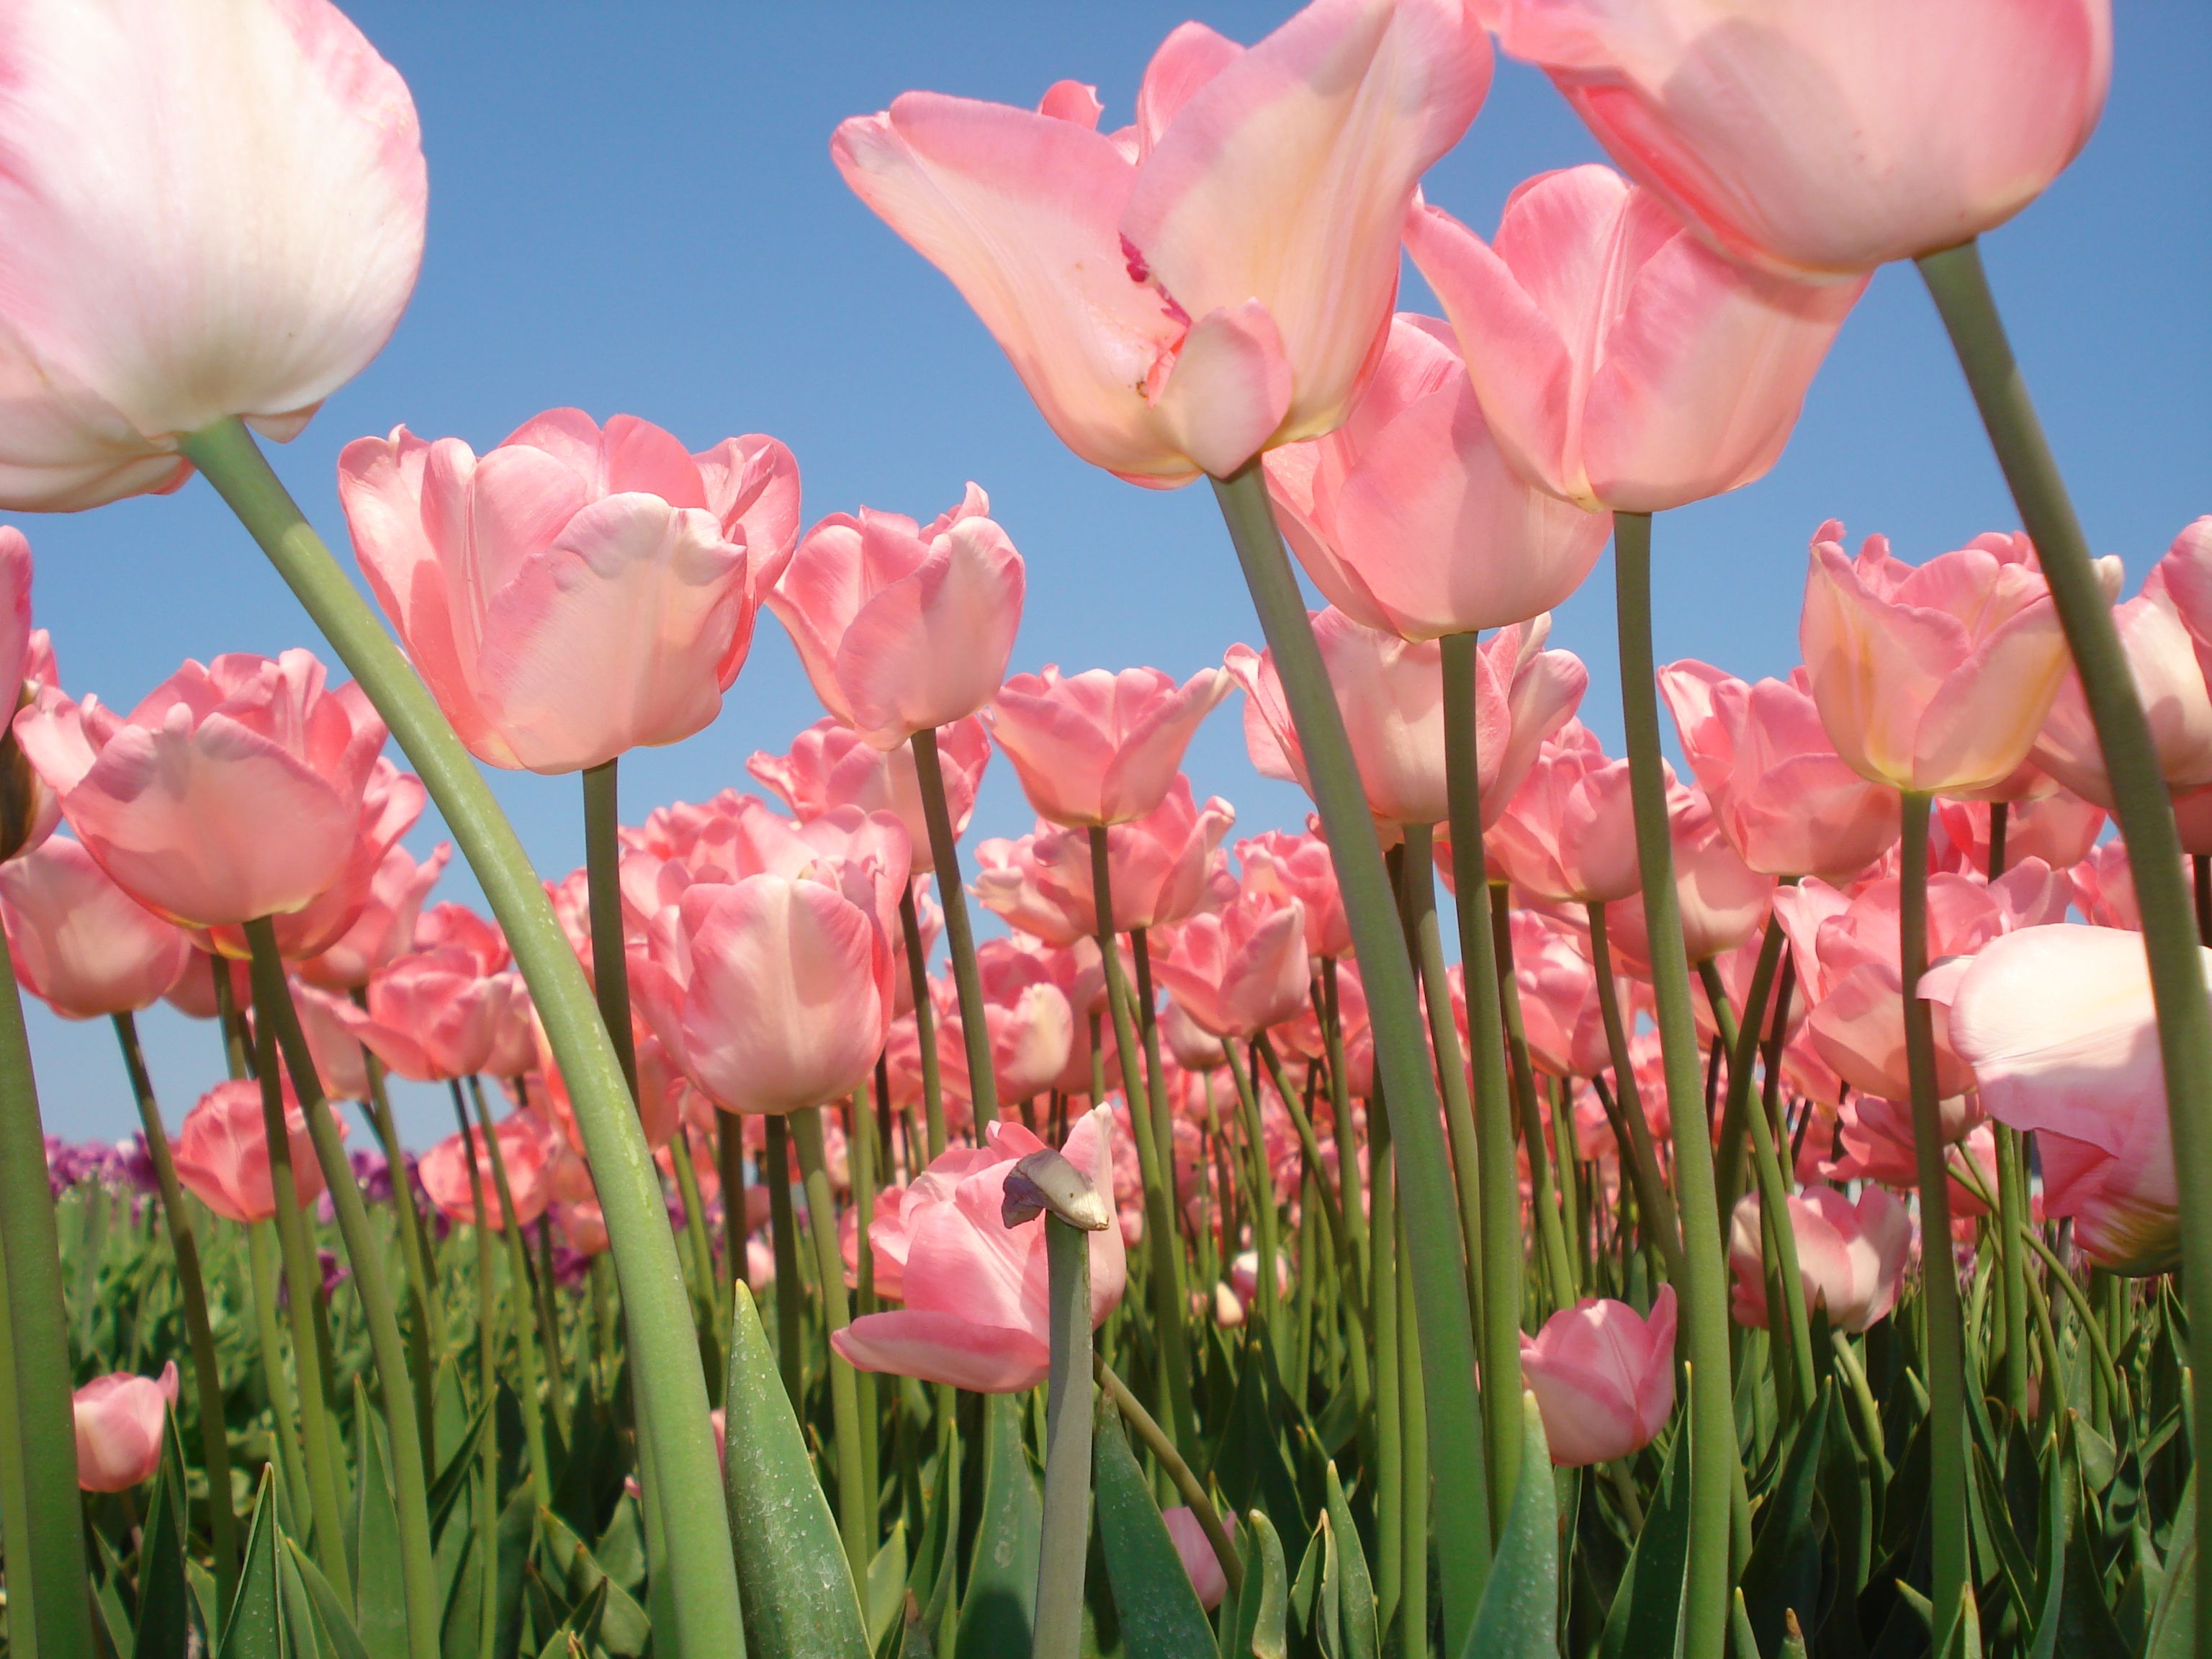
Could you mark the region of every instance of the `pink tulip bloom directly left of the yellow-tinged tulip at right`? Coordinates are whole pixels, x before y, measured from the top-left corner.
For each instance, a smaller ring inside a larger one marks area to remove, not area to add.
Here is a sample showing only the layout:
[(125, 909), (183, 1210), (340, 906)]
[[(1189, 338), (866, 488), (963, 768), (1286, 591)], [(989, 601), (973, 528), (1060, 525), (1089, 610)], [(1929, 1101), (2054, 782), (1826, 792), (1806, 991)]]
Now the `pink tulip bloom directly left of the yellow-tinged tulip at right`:
[(1659, 695), (1721, 834), (1759, 874), (1847, 880), (1896, 845), (1889, 790), (1836, 754), (1803, 668), (1745, 686), (1677, 661)]

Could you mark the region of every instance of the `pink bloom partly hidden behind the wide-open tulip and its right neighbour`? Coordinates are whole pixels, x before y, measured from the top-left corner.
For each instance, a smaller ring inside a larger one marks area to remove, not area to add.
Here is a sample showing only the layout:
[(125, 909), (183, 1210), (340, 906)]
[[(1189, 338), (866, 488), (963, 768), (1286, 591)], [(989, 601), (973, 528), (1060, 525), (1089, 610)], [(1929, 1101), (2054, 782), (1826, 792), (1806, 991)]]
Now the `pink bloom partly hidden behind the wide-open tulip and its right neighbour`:
[(1270, 453), (1267, 489), (1329, 604), (1407, 639), (1551, 611), (1582, 586), (1613, 526), (1513, 471), (1451, 330), (1407, 312), (1345, 425)]

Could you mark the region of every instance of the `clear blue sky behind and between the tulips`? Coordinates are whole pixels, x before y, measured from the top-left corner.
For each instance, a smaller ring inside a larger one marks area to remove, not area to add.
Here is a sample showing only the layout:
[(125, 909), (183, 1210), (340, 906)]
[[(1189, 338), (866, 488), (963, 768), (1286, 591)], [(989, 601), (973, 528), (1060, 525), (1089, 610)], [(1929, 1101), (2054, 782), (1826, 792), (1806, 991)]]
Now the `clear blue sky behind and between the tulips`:
[[(909, 86), (1033, 104), (1095, 82), (1128, 119), (1155, 44), (1192, 0), (1152, 4), (489, 4), (361, 0), (352, 15), (407, 75), (429, 150), (429, 252), (389, 349), (276, 451), (307, 513), (343, 546), (334, 460), (405, 422), (478, 449), (531, 414), (637, 414), (692, 449), (768, 431), (799, 456), (805, 515), (860, 502), (931, 518), (973, 478), (1029, 560), (1015, 668), (1155, 664), (1177, 675), (1259, 628), (1210, 491), (1133, 489), (1051, 436), (951, 285), (874, 219), (830, 164), (830, 131)], [(2212, 511), (2212, 9), (2119, 0), (2112, 97), (2088, 150), (1986, 257), (2099, 553), (2130, 584), (2181, 524)], [(1287, 4), (1199, 0), (1256, 40)], [(1597, 159), (1542, 75), (1500, 64), (1431, 201), (1489, 232), (1533, 173)], [(1407, 272), (1402, 303), (1433, 310)], [(1812, 387), (1781, 465), (1657, 529), (1659, 659), (1739, 675), (1796, 661), (1805, 542), (1840, 518), (1907, 560), (2017, 518), (1933, 310), (1911, 270), (1876, 276)], [(73, 692), (135, 703), (184, 657), (316, 644), (212, 491), (75, 518), (20, 520), (35, 608)], [(1553, 641), (1590, 664), (1584, 719), (1619, 737), (1610, 573), (1564, 606)], [(630, 821), (748, 779), (818, 717), (763, 615), (721, 721), (624, 761)], [(1287, 785), (1248, 765), (1234, 699), (1199, 734), (1199, 794), (1239, 832), (1303, 821)], [(500, 799), (546, 874), (582, 858), (573, 779), (502, 774)], [(1031, 818), (998, 761), (971, 834)], [(427, 816), (411, 843), (440, 838)], [(438, 896), (471, 898), (465, 872)], [(210, 1026), (144, 1018), (170, 1126), (217, 1077)], [(135, 1126), (106, 1022), (31, 1006), (49, 1130)], [(442, 1097), (407, 1091), (414, 1144), (445, 1133)]]

